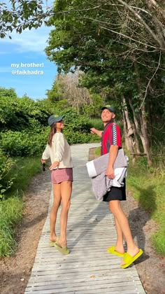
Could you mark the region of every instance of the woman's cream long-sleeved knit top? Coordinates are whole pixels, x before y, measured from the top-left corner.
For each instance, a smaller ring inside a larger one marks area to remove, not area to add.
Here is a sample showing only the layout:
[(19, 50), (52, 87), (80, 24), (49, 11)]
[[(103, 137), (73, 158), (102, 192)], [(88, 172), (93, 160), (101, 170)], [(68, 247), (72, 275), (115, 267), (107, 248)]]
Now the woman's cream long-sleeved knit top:
[[(59, 161), (59, 169), (73, 167), (71, 148), (62, 132), (56, 132), (54, 134), (51, 147), (47, 144), (42, 159), (48, 160), (48, 158), (50, 158), (52, 163)], [(55, 169), (57, 169), (57, 167)]]

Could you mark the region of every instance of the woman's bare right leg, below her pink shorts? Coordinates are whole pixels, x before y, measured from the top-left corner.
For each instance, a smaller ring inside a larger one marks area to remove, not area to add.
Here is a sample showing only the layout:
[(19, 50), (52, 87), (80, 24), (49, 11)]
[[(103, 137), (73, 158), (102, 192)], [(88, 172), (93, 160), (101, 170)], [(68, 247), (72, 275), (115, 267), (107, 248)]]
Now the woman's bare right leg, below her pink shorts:
[(62, 193), (62, 211), (60, 214), (60, 239), (59, 245), (66, 246), (66, 227), (68, 221), (68, 212), (71, 205), (72, 181), (64, 181), (61, 183)]

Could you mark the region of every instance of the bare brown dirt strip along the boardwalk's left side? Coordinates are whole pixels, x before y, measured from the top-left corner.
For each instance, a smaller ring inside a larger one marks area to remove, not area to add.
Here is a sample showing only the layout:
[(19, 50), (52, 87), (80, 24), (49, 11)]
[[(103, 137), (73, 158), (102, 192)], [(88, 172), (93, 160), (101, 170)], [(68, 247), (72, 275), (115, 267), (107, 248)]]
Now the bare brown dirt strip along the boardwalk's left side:
[(24, 201), (24, 218), (17, 228), (17, 252), (0, 260), (0, 293), (23, 294), (34, 264), (38, 240), (48, 214), (50, 173), (35, 176)]

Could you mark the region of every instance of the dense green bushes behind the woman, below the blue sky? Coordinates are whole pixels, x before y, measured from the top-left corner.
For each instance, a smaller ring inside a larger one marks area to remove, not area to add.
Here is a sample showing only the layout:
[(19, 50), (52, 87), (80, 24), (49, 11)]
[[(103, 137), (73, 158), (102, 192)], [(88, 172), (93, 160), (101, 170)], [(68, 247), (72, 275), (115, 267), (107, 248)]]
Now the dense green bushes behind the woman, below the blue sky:
[(50, 130), (48, 117), (53, 113), (65, 116), (64, 134), (70, 144), (96, 140), (90, 134), (92, 126), (87, 116), (78, 115), (66, 99), (55, 103), (49, 99), (34, 102), (26, 96), (17, 98), (14, 90), (2, 89), (0, 92), (0, 141), (6, 154), (20, 157), (41, 154)]

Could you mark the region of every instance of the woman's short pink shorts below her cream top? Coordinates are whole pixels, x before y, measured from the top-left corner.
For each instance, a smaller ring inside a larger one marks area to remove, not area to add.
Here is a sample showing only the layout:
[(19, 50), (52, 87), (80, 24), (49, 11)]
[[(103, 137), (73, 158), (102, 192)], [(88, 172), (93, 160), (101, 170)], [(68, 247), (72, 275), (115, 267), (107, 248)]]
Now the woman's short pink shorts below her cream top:
[(64, 181), (73, 181), (73, 169), (53, 169), (51, 174), (52, 183), (62, 183)]

